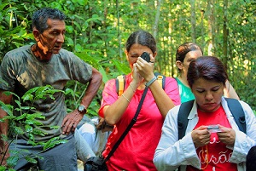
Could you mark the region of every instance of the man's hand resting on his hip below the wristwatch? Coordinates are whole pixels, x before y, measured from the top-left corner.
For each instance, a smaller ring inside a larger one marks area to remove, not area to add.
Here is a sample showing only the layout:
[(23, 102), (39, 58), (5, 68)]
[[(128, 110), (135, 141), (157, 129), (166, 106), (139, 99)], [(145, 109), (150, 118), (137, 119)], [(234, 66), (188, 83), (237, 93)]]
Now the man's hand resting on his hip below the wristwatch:
[(71, 131), (74, 132), (83, 117), (84, 114), (77, 110), (68, 113), (61, 124), (62, 134), (69, 134)]

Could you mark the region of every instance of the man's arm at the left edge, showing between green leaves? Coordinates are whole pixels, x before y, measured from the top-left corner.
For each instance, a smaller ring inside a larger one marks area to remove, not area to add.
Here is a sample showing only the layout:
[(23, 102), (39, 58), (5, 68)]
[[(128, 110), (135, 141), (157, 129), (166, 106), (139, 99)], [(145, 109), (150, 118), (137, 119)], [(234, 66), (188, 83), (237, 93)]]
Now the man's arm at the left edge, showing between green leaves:
[[(4, 90), (0, 89), (0, 100), (3, 101), (3, 103), (5, 104), (10, 104), (11, 100), (12, 100), (12, 95), (5, 95), (3, 94)], [(7, 116), (7, 113), (5, 111), (2, 110), (2, 108), (0, 108), (0, 118), (3, 118)], [(8, 143), (2, 140), (2, 134), (7, 135), (8, 133), (8, 122), (5, 121), (4, 123), (0, 122), (0, 135), (1, 135), (1, 139), (0, 139), (0, 162), (3, 159), (3, 155), (4, 153), (8, 150), (7, 146)], [(3, 160), (3, 165), (6, 164), (6, 159), (7, 157), (9, 157), (9, 153), (6, 153), (6, 155), (4, 156), (4, 160)]]

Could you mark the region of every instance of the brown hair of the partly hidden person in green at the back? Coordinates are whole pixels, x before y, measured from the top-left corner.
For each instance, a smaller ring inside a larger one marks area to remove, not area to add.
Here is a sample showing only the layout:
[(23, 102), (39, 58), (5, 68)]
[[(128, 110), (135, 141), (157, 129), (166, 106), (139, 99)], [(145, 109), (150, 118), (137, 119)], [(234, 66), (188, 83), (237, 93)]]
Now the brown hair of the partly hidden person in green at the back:
[[(180, 60), (181, 62), (183, 62), (186, 54), (194, 50), (201, 50), (201, 48), (195, 43), (183, 43), (177, 48), (176, 61)], [(201, 54), (203, 54), (202, 50), (201, 50)]]

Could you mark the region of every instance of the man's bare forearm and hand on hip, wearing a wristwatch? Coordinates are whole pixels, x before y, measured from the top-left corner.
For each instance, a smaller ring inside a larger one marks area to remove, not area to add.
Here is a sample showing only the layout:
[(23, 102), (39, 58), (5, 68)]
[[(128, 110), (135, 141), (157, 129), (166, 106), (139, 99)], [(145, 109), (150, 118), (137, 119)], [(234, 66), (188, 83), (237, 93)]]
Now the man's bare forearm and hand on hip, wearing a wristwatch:
[[(92, 75), (90, 78), (90, 82), (85, 90), (85, 94), (83, 99), (81, 100), (81, 105), (87, 109), (90, 105), (90, 102), (96, 96), (98, 89), (102, 84), (102, 74), (97, 71), (95, 68), (92, 68)], [(74, 131), (79, 122), (84, 117), (83, 113), (80, 113), (77, 109), (71, 113), (69, 113), (61, 124), (62, 134), (69, 134), (70, 131)]]

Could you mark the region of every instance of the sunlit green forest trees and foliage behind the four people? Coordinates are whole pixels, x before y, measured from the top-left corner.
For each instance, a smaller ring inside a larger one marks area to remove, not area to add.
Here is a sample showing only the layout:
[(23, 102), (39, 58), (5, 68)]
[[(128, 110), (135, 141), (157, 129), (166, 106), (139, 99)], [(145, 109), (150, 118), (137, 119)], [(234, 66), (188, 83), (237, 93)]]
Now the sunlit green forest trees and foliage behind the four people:
[[(31, 17), (42, 7), (67, 14), (63, 48), (101, 71), (104, 83), (130, 71), (125, 41), (131, 32), (143, 29), (157, 40), (156, 71), (176, 77), (177, 47), (184, 42), (198, 43), (204, 55), (224, 62), (241, 100), (256, 109), (254, 0), (0, 0), (0, 62), (9, 50), (35, 43)], [(102, 88), (90, 105), (90, 115), (99, 109)], [(84, 85), (69, 82), (65, 93), (68, 109), (73, 110), (84, 94)]]

